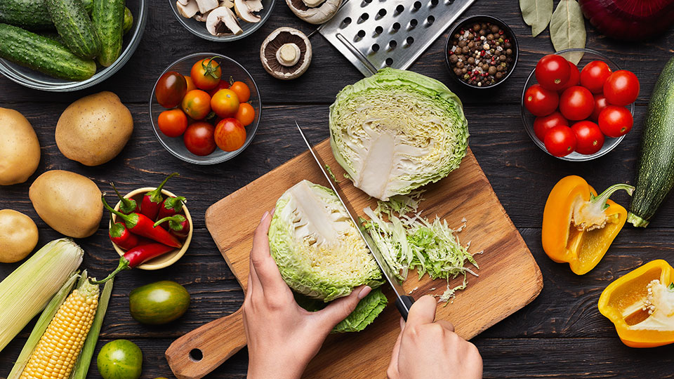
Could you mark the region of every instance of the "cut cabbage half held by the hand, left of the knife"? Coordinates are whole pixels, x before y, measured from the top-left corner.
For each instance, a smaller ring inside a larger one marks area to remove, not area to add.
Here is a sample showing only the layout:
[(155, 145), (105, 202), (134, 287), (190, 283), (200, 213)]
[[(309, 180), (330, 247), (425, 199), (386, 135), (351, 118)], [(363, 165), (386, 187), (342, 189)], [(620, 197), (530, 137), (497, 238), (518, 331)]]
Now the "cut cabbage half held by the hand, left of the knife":
[(303, 180), (277, 201), (269, 228), (272, 257), (290, 288), (330, 300), (367, 284), (381, 271), (335, 193)]

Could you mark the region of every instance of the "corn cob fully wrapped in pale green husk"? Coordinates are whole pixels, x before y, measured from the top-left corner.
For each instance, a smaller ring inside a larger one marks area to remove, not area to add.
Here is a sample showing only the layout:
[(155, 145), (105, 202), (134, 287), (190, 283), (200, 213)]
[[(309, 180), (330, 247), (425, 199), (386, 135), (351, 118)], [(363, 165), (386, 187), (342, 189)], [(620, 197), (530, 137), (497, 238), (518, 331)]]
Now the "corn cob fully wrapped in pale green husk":
[(71, 239), (57, 239), (0, 282), (0, 352), (77, 270), (82, 255)]

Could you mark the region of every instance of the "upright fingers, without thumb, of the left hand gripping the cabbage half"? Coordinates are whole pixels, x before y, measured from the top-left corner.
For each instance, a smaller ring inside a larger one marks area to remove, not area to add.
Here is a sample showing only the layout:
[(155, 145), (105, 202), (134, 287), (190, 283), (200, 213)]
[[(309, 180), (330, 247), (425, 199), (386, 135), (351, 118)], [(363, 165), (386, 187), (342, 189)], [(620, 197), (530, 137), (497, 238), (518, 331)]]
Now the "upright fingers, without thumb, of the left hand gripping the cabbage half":
[[(272, 212), (273, 213), (273, 212)], [(265, 212), (260, 224), (253, 235), (253, 249), (251, 250), (251, 276), (253, 283), (256, 279), (264, 291), (274, 291), (275, 288), (286, 289), (286, 283), (281, 277), (279, 267), (269, 253), (269, 225), (272, 216)]]

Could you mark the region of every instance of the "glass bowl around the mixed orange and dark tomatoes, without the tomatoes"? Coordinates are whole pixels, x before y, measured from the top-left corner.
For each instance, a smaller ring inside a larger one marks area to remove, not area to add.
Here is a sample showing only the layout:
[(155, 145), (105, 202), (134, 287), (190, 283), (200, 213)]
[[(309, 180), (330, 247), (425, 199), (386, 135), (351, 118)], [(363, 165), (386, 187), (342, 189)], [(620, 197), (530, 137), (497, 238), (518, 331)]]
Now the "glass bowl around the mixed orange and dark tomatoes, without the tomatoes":
[[(155, 82), (154, 86), (152, 87), (152, 93), (150, 94), (150, 121), (152, 122), (152, 128), (154, 129), (154, 135), (157, 135), (157, 140), (159, 140), (161, 145), (164, 146), (164, 148), (168, 150), (171, 154), (191, 164), (202, 164), (202, 165), (219, 164), (236, 157), (241, 152), (243, 152), (244, 149), (248, 147), (248, 145), (251, 144), (251, 142), (253, 141), (253, 137), (255, 137), (255, 133), (258, 130), (258, 124), (260, 124), (260, 114), (262, 113), (262, 100), (260, 100), (260, 91), (258, 90), (258, 86), (255, 84), (255, 81), (253, 80), (253, 77), (251, 77), (251, 74), (242, 65), (239, 65), (239, 63), (233, 60), (232, 58), (228, 58), (225, 55), (216, 53), (190, 54), (187, 55), (186, 57), (176, 60), (176, 62), (171, 63), (169, 67), (166, 67), (164, 72), (161, 72), (159, 78), (161, 78), (162, 75), (166, 74), (166, 72), (169, 71), (175, 71), (183, 75), (189, 75), (190, 69), (192, 68), (192, 65), (194, 65), (195, 62), (204, 58), (211, 58), (211, 57), (217, 58), (218, 62), (220, 63), (220, 67), (222, 68), (223, 72), (223, 78), (232, 77), (234, 81), (243, 81), (246, 84), (246, 86), (250, 88), (251, 99), (249, 100), (249, 103), (253, 106), (253, 109), (255, 109), (255, 120), (253, 120), (252, 124), (246, 126), (246, 142), (244, 142), (244, 145), (240, 149), (235, 150), (233, 152), (225, 152), (224, 150), (218, 149), (216, 147), (216, 150), (214, 152), (212, 152), (209, 155), (206, 155), (205, 157), (200, 157), (199, 155), (192, 154), (189, 150), (187, 150), (187, 147), (185, 147), (185, 143), (183, 142), (182, 136), (167, 137), (166, 135), (164, 135), (164, 133), (161, 133), (161, 131), (159, 130), (159, 126), (157, 126), (157, 119), (159, 118), (159, 114), (167, 109), (159, 105), (159, 102), (157, 102), (157, 98), (154, 97), (154, 90), (155, 88), (157, 88), (157, 82)], [(159, 78), (157, 78), (157, 81), (159, 81)]]

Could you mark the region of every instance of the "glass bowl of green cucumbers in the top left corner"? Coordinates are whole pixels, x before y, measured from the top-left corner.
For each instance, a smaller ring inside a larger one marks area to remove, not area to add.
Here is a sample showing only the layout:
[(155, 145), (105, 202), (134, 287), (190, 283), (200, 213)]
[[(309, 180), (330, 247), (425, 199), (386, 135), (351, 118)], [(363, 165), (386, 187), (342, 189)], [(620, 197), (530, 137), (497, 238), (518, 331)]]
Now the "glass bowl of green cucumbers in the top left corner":
[[(85, 15), (91, 15), (94, 1), (98, 0), (83, 0), (81, 4), (84, 9), (68, 8), (74, 3), (71, 1), (64, 2), (62, 7), (72, 15), (81, 14), (82, 11)], [(93, 35), (110, 33), (107, 41), (99, 39), (98, 46), (106, 47), (98, 50), (91, 47), (91, 39), (87, 39), (86, 33), (78, 39), (81, 43), (66, 41), (58, 34), (43, 1), (27, 1), (30, 9), (14, 16), (5, 14), (10, 20), (4, 22), (12, 25), (0, 25), (0, 73), (22, 86), (51, 92), (77, 91), (111, 77), (138, 48), (147, 22), (147, 0), (105, 1), (104, 9), (99, 13), (104, 15), (103, 19), (105, 15), (114, 13), (112, 7), (117, 6), (119, 9), (117, 1), (126, 3), (124, 21), (116, 25), (117, 29), (115, 23), (110, 21), (100, 22), (103, 27), (97, 28), (93, 17), (89, 15), (68, 20), (78, 23), (78, 28), (89, 30)], [(31, 17), (27, 18), (26, 14)], [(114, 34), (119, 28), (124, 33), (121, 49), (114, 41)], [(95, 42), (93, 46), (97, 46)], [(73, 52), (76, 50), (79, 54), (96, 55), (96, 58), (79, 58)]]

